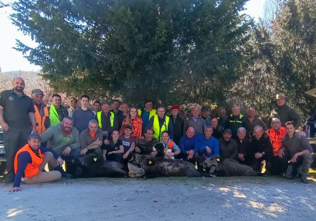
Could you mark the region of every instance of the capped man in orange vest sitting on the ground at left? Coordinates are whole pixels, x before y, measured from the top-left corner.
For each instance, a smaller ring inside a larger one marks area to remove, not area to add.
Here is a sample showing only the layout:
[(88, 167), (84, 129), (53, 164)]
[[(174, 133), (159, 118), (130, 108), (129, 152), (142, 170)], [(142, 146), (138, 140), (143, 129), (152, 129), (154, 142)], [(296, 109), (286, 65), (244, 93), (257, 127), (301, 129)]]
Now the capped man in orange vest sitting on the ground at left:
[(20, 189), (21, 181), (25, 184), (47, 183), (59, 180), (59, 171), (42, 171), (48, 163), (52, 168), (62, 166), (64, 161), (50, 148), (40, 147), (41, 137), (31, 134), (28, 144), (22, 147), (14, 159), (14, 171), (16, 173), (13, 187), (10, 192), (17, 192)]

